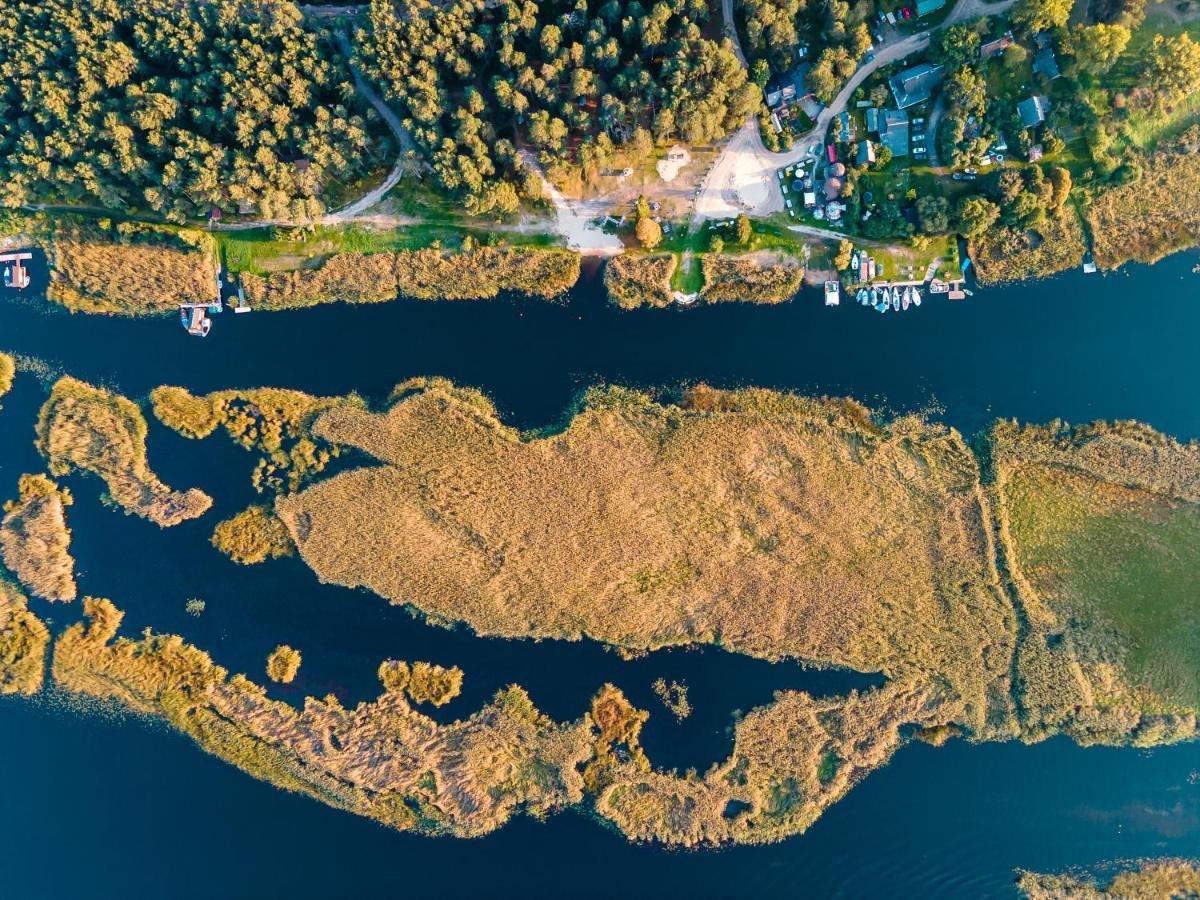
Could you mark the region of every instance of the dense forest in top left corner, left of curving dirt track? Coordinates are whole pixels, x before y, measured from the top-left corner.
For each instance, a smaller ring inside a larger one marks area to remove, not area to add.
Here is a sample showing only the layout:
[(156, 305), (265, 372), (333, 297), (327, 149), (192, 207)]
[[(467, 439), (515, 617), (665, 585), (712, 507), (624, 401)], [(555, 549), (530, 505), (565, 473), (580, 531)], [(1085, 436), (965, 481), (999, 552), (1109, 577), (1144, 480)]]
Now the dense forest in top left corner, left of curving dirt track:
[(0, 202), (322, 210), (370, 137), (332, 37), (283, 0), (5, 4)]

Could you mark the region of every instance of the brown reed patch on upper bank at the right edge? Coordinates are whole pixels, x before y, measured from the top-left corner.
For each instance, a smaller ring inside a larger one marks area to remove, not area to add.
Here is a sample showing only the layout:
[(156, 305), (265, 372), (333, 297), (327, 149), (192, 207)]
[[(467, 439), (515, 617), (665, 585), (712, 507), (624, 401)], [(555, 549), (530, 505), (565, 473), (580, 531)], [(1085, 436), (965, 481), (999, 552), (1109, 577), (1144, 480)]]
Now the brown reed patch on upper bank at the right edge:
[(1087, 210), (1096, 262), (1157, 263), (1200, 242), (1200, 127), (1146, 160), (1142, 176), (1106, 191)]

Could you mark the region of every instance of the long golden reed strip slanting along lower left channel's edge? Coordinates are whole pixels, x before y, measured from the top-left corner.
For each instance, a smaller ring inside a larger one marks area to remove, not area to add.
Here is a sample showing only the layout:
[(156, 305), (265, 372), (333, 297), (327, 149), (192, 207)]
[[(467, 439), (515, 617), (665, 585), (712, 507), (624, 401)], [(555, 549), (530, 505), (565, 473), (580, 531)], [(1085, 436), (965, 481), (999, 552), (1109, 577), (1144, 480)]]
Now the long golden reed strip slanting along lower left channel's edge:
[(450, 725), (398, 691), (354, 709), (308, 698), (298, 712), (179, 637), (116, 638), (121, 613), (107, 600), (89, 599), (85, 611), (88, 626), (73, 625), (55, 646), (58, 684), (163, 716), (284, 790), (394, 828), (463, 838), (521, 810), (546, 815), (582, 799), (589, 720), (556, 724), (520, 688)]

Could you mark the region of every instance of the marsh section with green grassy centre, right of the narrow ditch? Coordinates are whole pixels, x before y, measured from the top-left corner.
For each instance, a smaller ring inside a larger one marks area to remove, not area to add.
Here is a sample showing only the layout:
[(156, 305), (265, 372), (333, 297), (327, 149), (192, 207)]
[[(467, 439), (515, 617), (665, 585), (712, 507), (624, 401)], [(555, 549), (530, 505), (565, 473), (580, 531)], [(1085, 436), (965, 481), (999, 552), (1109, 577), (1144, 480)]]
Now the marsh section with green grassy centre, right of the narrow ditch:
[(1200, 445), (1135, 424), (991, 432), (1030, 736), (1160, 744), (1200, 710)]

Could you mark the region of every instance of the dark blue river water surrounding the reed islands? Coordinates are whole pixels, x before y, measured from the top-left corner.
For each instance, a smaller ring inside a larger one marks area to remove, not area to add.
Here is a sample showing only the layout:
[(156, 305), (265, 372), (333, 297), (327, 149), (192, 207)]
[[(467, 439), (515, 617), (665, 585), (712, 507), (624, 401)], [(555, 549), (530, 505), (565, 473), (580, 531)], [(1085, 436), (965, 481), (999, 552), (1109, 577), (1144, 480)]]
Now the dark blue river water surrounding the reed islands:
[[(173, 319), (128, 322), (0, 304), (0, 349), (131, 396), (281, 385), (382, 397), (404, 378), (479, 386), (522, 427), (559, 419), (598, 382), (694, 380), (847, 394), (892, 410), (936, 408), (965, 432), (1024, 420), (1138, 418), (1200, 437), (1200, 276), (1195, 254), (1109, 277), (1060, 278), (931, 299), (881, 317), (826, 310), (815, 293), (782, 307), (618, 313), (594, 280), (569, 304), (398, 302), (217, 317), (209, 338)], [(43, 389), (20, 376), (0, 410), (0, 496), (40, 470), (32, 422)], [(378, 598), (320, 586), (296, 560), (244, 569), (208, 545), (217, 516), (253, 499), (252, 457), (222, 438), (188, 442), (151, 424), (151, 463), (215, 510), (158, 528), (98, 503), (68, 479), (84, 593), (127, 611), (126, 630), (179, 632), (262, 680), (265, 654), (300, 647), (296, 683), (276, 696), (377, 692), (385, 656), (461, 665), (466, 715), (499, 686), (526, 686), (548, 714), (577, 716), (605, 682), (652, 712), (650, 758), (706, 768), (731, 746), (737, 709), (784, 688), (835, 694), (871, 676), (812, 672), (715, 649), (632, 662), (589, 643), (480, 640), (434, 629)], [(206, 610), (187, 616), (202, 598)], [(77, 608), (38, 612), (73, 619)], [(695, 712), (677, 724), (650, 691), (685, 680)], [(805, 835), (770, 847), (668, 853), (636, 847), (580, 814), (514, 820), (476, 841), (400, 835), (283, 794), (164, 730), (0, 702), (0, 896), (1007, 895), (1013, 870), (1117, 857), (1200, 853), (1200, 749), (1080, 749), (1067, 740), (904, 749)]]

